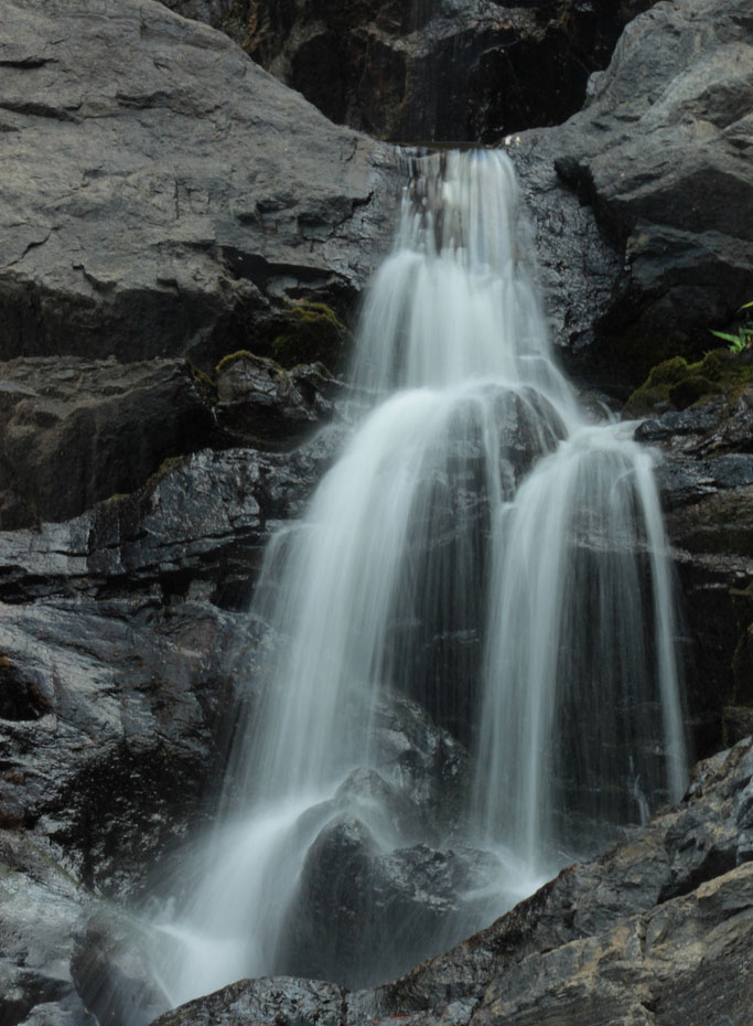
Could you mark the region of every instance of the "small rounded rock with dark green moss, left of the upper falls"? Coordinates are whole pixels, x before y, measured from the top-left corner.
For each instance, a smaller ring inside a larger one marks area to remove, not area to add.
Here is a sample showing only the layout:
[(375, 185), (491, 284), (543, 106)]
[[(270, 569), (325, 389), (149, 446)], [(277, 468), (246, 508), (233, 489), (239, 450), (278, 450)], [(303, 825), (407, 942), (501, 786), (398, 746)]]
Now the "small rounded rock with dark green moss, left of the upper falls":
[(271, 355), (283, 367), (323, 363), (331, 371), (342, 365), (347, 330), (323, 302), (295, 303), (286, 312), (286, 328), (271, 343)]

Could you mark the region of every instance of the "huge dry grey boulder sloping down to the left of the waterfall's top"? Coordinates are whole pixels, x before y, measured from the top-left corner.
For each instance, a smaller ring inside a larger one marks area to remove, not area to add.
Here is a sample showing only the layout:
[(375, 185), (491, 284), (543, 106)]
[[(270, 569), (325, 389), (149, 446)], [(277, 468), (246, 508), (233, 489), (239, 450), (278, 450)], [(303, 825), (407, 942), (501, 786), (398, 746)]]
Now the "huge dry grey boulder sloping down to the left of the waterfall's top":
[(2, 23), (0, 359), (214, 363), (289, 299), (349, 308), (389, 237), (386, 149), (152, 0)]

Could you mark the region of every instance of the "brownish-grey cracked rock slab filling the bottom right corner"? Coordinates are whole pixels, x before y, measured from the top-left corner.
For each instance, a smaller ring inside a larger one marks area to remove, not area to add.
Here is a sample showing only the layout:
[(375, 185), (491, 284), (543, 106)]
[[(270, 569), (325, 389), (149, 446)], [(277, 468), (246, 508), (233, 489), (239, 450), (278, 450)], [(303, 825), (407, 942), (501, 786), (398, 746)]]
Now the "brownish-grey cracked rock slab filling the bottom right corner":
[(605, 933), (533, 955), (495, 981), (469, 1023), (553, 1026), (743, 1023), (753, 988), (753, 866)]

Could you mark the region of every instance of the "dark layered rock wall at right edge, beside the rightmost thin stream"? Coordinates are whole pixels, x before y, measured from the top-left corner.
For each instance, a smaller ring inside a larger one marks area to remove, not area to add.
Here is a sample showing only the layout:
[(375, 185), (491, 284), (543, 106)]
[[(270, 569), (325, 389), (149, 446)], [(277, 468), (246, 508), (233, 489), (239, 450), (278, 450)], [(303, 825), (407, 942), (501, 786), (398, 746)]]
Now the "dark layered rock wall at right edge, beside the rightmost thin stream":
[(753, 391), (734, 375), (723, 389), (687, 409), (668, 409), (635, 432), (660, 452), (657, 480), (680, 584), (686, 692), (701, 756), (750, 733), (744, 713), (741, 719), (724, 708), (753, 698), (744, 683), (753, 671), (746, 651), (753, 607), (735, 605), (753, 580)]

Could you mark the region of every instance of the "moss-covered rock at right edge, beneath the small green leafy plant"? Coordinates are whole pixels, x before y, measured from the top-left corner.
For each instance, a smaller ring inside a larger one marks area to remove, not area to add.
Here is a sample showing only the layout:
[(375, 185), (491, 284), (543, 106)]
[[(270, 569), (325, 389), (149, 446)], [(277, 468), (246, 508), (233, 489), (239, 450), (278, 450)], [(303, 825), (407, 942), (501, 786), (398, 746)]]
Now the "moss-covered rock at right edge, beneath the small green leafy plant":
[(673, 356), (657, 364), (625, 404), (624, 416), (644, 417), (668, 409), (687, 409), (723, 393), (730, 398), (753, 384), (753, 364), (728, 350), (712, 350), (688, 363)]

